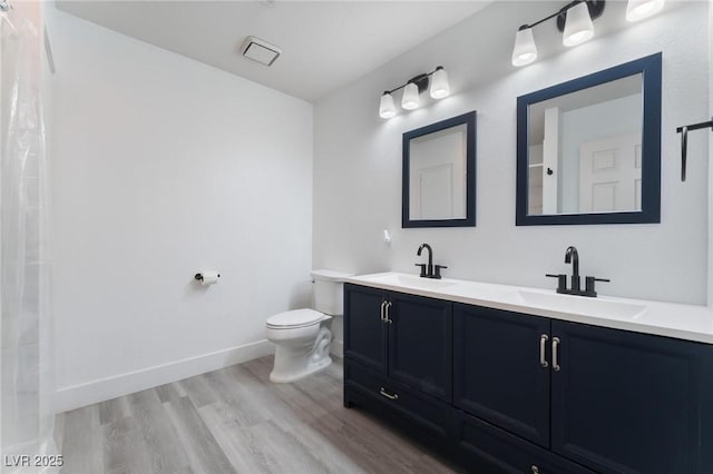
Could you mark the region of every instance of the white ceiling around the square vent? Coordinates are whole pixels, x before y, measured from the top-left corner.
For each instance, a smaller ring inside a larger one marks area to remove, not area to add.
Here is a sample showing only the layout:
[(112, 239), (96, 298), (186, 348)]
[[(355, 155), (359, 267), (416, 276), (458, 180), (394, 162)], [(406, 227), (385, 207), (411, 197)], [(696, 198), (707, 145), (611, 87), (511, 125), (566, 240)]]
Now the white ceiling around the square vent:
[[(482, 9), (460, 1), (66, 1), (68, 13), (224, 71), (315, 101)], [(272, 42), (272, 67), (243, 58)]]

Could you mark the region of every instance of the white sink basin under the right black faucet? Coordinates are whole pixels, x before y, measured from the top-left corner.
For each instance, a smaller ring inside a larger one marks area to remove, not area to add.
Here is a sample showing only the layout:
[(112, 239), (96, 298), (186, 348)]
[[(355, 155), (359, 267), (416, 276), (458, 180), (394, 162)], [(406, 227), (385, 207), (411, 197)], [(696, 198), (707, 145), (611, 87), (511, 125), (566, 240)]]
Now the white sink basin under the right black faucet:
[(502, 300), (515, 305), (608, 319), (638, 319), (646, 314), (646, 306), (643, 305), (557, 293), (515, 290), (506, 294)]

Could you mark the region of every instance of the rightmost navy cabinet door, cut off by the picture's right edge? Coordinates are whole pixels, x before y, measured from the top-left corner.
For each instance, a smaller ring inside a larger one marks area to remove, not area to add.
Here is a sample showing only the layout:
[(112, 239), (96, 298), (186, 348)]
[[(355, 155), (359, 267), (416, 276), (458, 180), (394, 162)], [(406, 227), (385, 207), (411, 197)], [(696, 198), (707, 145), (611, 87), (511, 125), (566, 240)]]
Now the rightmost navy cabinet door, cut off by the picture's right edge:
[(713, 346), (553, 322), (553, 451), (603, 473), (713, 472)]

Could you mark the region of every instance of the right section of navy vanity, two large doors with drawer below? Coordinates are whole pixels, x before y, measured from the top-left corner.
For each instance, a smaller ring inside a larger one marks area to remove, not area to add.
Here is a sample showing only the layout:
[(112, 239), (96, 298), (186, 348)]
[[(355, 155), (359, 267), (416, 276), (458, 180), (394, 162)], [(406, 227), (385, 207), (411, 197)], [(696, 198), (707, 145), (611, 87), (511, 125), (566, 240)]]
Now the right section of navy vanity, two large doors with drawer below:
[(453, 337), (458, 453), (484, 472), (713, 473), (713, 346), (461, 304)]

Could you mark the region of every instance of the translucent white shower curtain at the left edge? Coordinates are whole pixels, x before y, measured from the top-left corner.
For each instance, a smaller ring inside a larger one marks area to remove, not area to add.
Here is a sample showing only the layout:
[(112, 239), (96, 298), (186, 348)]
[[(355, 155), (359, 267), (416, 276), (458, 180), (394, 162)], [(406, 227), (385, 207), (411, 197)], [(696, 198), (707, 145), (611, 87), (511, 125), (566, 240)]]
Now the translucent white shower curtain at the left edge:
[(14, 10), (0, 30), (0, 464), (28, 473), (56, 454), (40, 41)]

